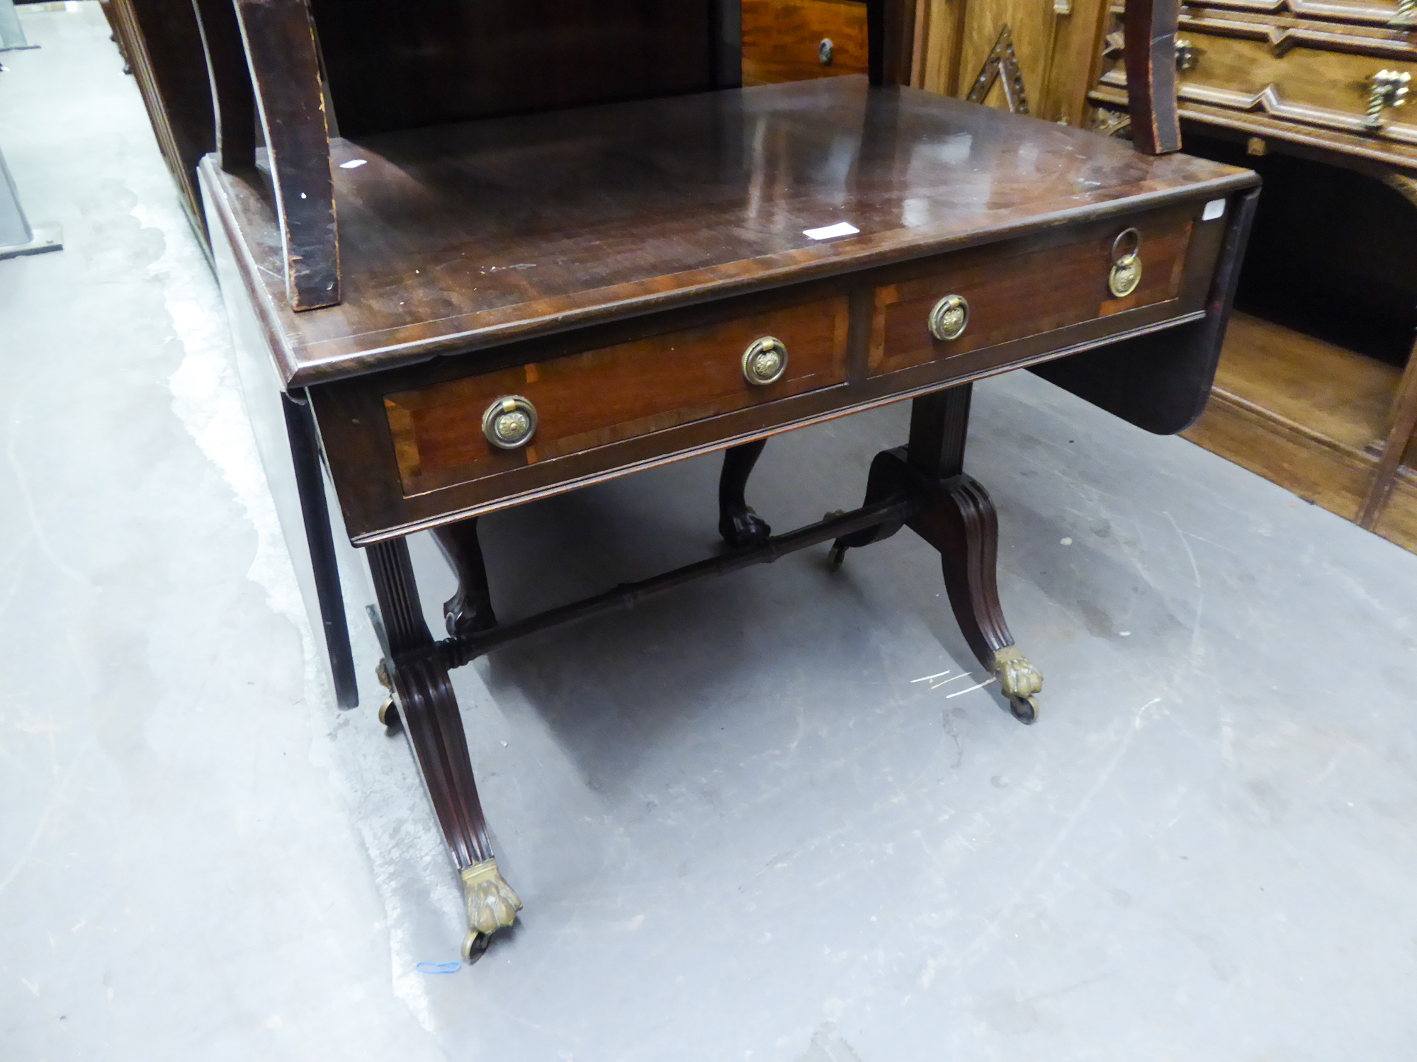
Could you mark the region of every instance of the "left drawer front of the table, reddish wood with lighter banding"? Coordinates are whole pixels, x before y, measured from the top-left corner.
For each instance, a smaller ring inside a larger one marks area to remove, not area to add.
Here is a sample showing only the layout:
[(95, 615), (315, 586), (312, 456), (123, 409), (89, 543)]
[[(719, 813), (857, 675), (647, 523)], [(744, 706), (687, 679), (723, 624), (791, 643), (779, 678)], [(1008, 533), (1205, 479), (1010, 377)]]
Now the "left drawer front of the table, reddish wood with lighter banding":
[[(837, 297), (385, 395), (404, 494), (843, 384), (846, 334), (847, 300)], [(750, 384), (744, 354), (768, 336), (786, 347), (786, 371)], [(509, 396), (531, 404), (536, 430), (500, 449), (483, 435), (483, 413)]]

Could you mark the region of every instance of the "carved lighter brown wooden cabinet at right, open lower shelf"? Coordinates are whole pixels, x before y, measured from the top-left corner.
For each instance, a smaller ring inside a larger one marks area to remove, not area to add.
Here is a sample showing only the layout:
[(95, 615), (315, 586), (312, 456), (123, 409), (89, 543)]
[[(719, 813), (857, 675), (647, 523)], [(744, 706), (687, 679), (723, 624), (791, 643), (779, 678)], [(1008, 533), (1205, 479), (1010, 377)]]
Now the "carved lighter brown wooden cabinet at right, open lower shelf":
[[(1090, 101), (1124, 132), (1111, 18)], [(1179, 33), (1186, 150), (1268, 187), (1246, 316), (1187, 438), (1417, 551), (1417, 3), (1186, 0)]]

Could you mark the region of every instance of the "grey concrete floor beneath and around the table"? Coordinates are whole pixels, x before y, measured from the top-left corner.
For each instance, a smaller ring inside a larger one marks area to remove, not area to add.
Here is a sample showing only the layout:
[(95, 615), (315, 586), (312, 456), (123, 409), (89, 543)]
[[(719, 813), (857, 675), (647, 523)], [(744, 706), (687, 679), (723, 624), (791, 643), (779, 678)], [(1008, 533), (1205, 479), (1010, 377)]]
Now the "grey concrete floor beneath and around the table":
[[(456, 685), (524, 918), (418, 973), (453, 875), (302, 649), (137, 91), (96, 4), (24, 24), (0, 146), (67, 246), (0, 262), (6, 1062), (1417, 1056), (1417, 556), (1026, 374), (969, 466), (1037, 726), (914, 681), (976, 667), (910, 534), (499, 651)], [(777, 440), (760, 511), (854, 504), (904, 429)], [(711, 548), (714, 476), (490, 518), (503, 616)]]

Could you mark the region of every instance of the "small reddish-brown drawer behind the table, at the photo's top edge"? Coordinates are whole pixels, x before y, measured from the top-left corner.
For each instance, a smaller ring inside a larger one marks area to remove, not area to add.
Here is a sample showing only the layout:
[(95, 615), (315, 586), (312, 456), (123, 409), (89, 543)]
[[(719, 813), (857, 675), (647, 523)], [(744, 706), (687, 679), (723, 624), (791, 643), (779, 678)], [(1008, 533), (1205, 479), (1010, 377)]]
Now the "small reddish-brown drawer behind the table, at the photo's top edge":
[[(822, 62), (822, 41), (832, 61)], [(866, 72), (862, 0), (743, 0), (743, 82), (829, 78)]]

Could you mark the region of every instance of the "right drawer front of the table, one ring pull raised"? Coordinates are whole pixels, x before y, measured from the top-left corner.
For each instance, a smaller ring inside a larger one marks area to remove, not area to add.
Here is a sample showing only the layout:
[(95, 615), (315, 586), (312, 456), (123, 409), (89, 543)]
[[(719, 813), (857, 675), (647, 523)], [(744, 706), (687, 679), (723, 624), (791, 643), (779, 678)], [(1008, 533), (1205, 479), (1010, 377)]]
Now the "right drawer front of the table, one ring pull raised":
[[(1192, 211), (1119, 219), (1104, 235), (1002, 256), (990, 249), (951, 255), (927, 273), (876, 289), (869, 371), (896, 372), (941, 358), (1022, 340), (1070, 324), (1176, 299), (1186, 269)], [(1118, 299), (1108, 286), (1114, 241), (1141, 234), (1141, 280)], [(968, 302), (965, 330), (952, 340), (930, 331), (935, 304)]]

